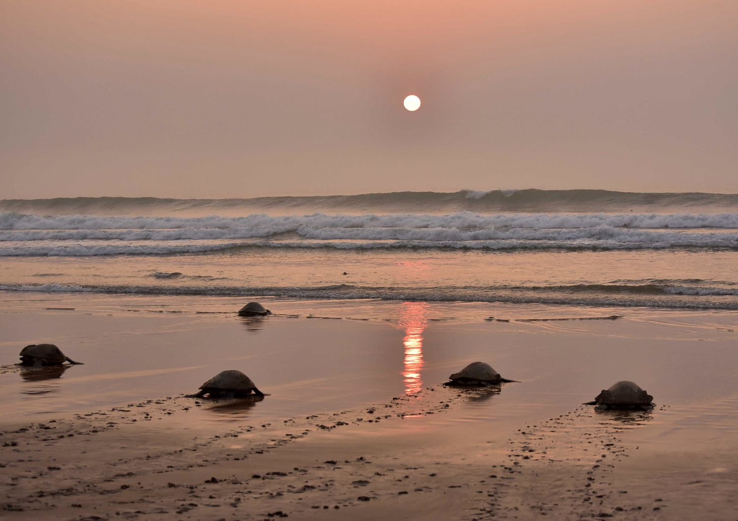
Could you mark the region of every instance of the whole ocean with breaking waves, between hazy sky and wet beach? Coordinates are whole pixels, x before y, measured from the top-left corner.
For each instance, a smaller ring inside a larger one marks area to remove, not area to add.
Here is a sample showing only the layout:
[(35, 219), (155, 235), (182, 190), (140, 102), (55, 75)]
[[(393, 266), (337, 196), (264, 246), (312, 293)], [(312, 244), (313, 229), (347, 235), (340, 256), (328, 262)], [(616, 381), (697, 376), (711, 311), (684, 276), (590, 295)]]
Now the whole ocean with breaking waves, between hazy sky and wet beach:
[(0, 290), (738, 309), (738, 195), (0, 200)]

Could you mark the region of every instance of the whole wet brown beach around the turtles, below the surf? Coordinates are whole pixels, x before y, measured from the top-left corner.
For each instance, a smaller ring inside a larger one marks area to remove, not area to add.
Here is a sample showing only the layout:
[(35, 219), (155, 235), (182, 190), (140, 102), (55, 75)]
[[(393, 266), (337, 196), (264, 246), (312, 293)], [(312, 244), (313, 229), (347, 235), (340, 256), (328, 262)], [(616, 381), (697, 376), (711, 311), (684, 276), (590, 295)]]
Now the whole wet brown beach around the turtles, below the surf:
[[(734, 312), (1, 297), (7, 519), (738, 517)], [(441, 385), (474, 360), (522, 382)], [(270, 396), (181, 396), (224, 368)], [(579, 405), (616, 380), (657, 407)]]

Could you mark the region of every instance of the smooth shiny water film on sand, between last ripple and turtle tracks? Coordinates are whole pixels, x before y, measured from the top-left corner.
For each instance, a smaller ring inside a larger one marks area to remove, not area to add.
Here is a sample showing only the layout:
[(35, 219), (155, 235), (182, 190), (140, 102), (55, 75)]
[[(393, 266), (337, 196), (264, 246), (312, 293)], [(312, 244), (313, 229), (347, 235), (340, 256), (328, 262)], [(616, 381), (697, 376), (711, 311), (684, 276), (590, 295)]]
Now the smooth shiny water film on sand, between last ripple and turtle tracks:
[[(491, 397), (511, 418), (522, 407), (570, 410), (617, 380), (659, 403), (738, 391), (735, 312), (272, 298), (275, 315), (248, 319), (232, 298), (28, 297), (3, 295), (3, 422), (194, 392), (226, 368), (272, 396), (213, 422), (411, 395), (475, 360), (524, 382)], [(12, 366), (22, 346), (41, 342), (85, 365)]]

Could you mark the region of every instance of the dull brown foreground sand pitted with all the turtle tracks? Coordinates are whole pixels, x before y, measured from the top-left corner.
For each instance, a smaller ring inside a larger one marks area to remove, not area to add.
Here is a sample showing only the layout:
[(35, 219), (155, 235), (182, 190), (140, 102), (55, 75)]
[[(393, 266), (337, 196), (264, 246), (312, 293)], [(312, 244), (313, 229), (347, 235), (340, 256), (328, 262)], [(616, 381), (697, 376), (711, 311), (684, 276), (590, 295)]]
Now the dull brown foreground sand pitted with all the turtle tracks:
[(613, 475), (637, 449), (624, 441), (628, 431), (652, 413), (580, 407), (520, 427), (507, 442), (464, 447), (462, 461), (453, 450), (426, 454), (407, 432), (418, 424), (398, 423), (421, 419), (432, 429), (431, 415), (497, 392), (435, 386), (364, 409), (262, 424), (249, 424), (255, 402), (177, 396), (34, 423), (0, 433), (1, 508), (7, 518), (53, 510), (77, 520), (663, 513), (665, 501), (631, 498)]

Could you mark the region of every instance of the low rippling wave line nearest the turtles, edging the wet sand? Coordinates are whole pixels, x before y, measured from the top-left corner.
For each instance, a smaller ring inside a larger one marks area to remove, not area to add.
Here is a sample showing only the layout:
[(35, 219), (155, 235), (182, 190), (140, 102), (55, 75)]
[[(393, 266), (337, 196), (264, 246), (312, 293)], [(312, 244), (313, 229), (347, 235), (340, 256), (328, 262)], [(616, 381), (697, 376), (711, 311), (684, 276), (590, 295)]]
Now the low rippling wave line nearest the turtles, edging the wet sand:
[[(118, 293), (162, 296), (275, 296), (290, 298), (378, 299), (388, 301), (510, 302), (517, 304), (565, 304), (574, 306), (660, 307), (677, 309), (738, 310), (738, 288), (670, 285), (573, 284), (551, 287), (410, 288), (356, 287), (337, 284), (321, 287), (241, 287), (164, 285), (0, 284), (0, 291), (33, 293)], [(718, 300), (709, 300), (717, 297)], [(720, 299), (720, 297), (723, 297)], [(728, 297), (728, 300), (725, 300)]]

